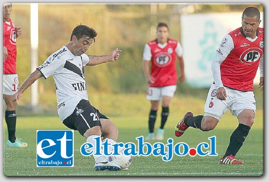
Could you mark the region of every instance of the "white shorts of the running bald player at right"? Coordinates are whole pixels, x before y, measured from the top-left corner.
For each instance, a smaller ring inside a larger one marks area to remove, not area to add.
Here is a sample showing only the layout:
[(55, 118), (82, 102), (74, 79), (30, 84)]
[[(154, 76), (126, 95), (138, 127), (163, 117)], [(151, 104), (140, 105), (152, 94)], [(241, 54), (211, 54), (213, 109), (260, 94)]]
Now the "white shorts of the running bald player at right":
[(256, 113), (256, 100), (252, 91), (243, 92), (225, 86), (224, 89), (227, 97), (225, 101), (222, 101), (217, 98), (215, 84), (211, 85), (204, 105), (205, 116), (212, 116), (220, 120), (227, 109), (234, 116), (237, 116), (245, 109), (253, 110)]

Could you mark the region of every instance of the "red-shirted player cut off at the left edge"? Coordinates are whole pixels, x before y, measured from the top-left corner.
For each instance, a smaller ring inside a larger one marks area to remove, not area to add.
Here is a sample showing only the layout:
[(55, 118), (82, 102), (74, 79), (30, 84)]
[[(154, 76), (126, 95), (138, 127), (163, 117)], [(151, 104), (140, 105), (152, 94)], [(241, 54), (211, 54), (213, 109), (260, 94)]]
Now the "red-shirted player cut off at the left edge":
[(7, 104), (5, 119), (8, 127), (7, 146), (26, 147), (27, 143), (21, 142), (16, 137), (16, 107), (12, 95), (17, 92), (19, 78), (16, 71), (17, 45), (16, 39), (22, 35), (20, 27), (16, 27), (10, 19), (12, 4), (6, 3), (3, 7), (3, 98)]

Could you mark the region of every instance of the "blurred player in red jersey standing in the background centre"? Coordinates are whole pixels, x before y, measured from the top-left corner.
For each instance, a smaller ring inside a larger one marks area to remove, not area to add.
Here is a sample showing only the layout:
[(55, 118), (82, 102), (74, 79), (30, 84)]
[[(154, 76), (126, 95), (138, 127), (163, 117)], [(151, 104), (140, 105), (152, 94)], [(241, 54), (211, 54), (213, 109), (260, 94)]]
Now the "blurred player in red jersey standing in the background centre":
[[(168, 25), (163, 22), (159, 23), (157, 26), (157, 39), (148, 42), (143, 52), (143, 72), (146, 82), (150, 85), (146, 98), (151, 101), (151, 111), (148, 116), (149, 133), (145, 140), (163, 140), (164, 138), (164, 125), (169, 115), (169, 104), (176, 90), (177, 57), (181, 70), (181, 76), (178, 80), (180, 82), (185, 80), (181, 44), (176, 40), (168, 38), (168, 36)], [(162, 100), (161, 126), (158, 128), (155, 138), (154, 126), (160, 100)]]

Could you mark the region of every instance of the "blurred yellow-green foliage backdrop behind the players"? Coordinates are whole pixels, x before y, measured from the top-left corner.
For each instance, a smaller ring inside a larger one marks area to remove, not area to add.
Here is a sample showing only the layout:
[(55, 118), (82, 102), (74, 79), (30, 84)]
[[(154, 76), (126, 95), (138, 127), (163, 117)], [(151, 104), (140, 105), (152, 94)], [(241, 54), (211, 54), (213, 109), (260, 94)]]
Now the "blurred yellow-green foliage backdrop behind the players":
[[(12, 6), (11, 18), (23, 31), (17, 39), (17, 73), (22, 84), (31, 73), (30, 4), (14, 3)], [(144, 45), (156, 38), (158, 22), (166, 22), (170, 38), (181, 41), (181, 14), (243, 12), (248, 6), (263, 11), (259, 4), (39, 4), (38, 65), (69, 42), (76, 25), (85, 24), (98, 32), (96, 42), (87, 54), (108, 54), (114, 48), (123, 50), (118, 62), (85, 68), (89, 100), (97, 92), (111, 96), (145, 95), (148, 85), (142, 72), (142, 54)], [(43, 108), (53, 107), (55, 110), (54, 89), (52, 77), (39, 79), (39, 100)], [(204, 90), (206, 93), (208, 88)], [(196, 97), (201, 93), (201, 97), (206, 97), (204, 92), (186, 83), (178, 84), (176, 92)], [(26, 90), (19, 105), (29, 105), (30, 94), (30, 89)]]

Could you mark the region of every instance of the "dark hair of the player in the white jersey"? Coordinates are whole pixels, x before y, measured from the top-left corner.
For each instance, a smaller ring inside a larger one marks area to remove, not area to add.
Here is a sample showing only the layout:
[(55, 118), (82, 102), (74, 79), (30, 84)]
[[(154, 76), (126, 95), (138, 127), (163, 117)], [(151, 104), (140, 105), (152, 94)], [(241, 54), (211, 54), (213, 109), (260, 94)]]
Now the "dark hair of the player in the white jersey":
[(72, 37), (76, 36), (76, 38), (79, 40), (81, 37), (87, 36), (90, 39), (94, 39), (95, 42), (95, 37), (97, 36), (97, 32), (95, 31), (94, 28), (90, 28), (86, 25), (77, 25), (72, 32), (70, 41), (72, 41)]

